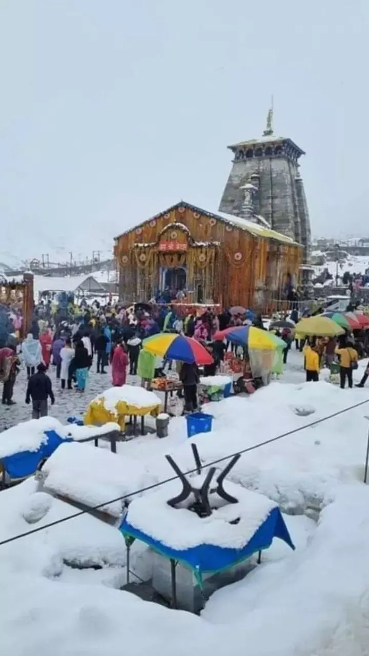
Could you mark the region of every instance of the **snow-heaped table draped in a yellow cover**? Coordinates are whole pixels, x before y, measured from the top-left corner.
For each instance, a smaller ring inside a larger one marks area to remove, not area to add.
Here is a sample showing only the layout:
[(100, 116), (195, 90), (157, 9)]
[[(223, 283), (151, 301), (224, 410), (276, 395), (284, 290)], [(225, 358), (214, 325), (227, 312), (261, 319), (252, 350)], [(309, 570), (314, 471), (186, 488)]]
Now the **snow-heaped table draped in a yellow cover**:
[(133, 433), (136, 434), (137, 417), (141, 417), (141, 434), (144, 435), (144, 417), (157, 417), (162, 401), (154, 392), (142, 387), (122, 385), (111, 387), (91, 401), (84, 417), (85, 424), (100, 425), (117, 422), (125, 432), (126, 417), (133, 417)]

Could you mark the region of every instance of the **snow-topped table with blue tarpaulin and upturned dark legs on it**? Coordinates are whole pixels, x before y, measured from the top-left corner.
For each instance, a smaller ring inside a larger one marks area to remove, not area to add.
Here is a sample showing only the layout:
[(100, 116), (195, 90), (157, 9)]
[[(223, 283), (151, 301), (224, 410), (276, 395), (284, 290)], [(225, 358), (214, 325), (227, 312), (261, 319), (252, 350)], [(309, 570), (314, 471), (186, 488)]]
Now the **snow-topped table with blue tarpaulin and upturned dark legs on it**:
[[(204, 474), (188, 476), (188, 482), (200, 489), (205, 478)], [(207, 575), (230, 570), (257, 552), (260, 558), (261, 551), (271, 546), (274, 537), (295, 548), (274, 501), (231, 482), (225, 482), (223, 489), (236, 502), (227, 503), (220, 496), (210, 495), (215, 496), (211, 499), (213, 512), (199, 516), (182, 499), (181, 506), (171, 505), (168, 500), (172, 494), (177, 497), (179, 482), (167, 483), (158, 491), (133, 499), (121, 521), (119, 529), (125, 536), (127, 558), (135, 539), (158, 554), (153, 586), (163, 596), (171, 596), (173, 605), (177, 599), (176, 565), (185, 565), (186, 571), (192, 571), (191, 577), (202, 588)], [(191, 495), (188, 499), (191, 502)], [(170, 577), (163, 558), (171, 562)], [(187, 607), (188, 586), (185, 587), (178, 590), (181, 607)]]

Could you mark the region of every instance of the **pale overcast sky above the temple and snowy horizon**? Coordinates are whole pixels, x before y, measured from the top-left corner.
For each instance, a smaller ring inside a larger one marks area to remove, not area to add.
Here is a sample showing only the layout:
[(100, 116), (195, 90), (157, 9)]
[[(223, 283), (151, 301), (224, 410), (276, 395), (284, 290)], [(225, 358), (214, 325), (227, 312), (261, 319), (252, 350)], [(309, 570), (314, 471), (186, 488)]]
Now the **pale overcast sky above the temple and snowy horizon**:
[(369, 232), (368, 30), (369, 0), (1, 0), (0, 260), (217, 209), (271, 94), (313, 234)]

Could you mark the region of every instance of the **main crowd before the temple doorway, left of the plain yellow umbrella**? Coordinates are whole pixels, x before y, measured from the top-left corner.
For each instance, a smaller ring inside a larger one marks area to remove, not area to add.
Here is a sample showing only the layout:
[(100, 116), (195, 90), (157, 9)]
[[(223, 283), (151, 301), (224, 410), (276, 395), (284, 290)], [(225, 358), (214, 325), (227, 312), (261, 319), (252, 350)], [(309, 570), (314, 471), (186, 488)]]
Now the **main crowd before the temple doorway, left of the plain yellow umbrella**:
[[(213, 342), (213, 335), (218, 330), (244, 322), (241, 315), (232, 316), (227, 310), (214, 314), (210, 308), (206, 308), (201, 316), (190, 312), (181, 316), (172, 305), (94, 306), (83, 308), (82, 314), (79, 310), (79, 314), (75, 312), (68, 317), (47, 316), (45, 306), (38, 309), (30, 333), (23, 342), (17, 344), (14, 333), (11, 333), (7, 344), (0, 348), (2, 402), (14, 405), (12, 396), (16, 375), (24, 363), (28, 377), (26, 403), (32, 401), (33, 418), (47, 415), (48, 399), (54, 403), (51, 379), (47, 375), (50, 365), (54, 365), (62, 389), (74, 387), (78, 392), (84, 392), (94, 361), (100, 375), (108, 373), (106, 369), (110, 363), (115, 386), (125, 384), (127, 371), (131, 375), (141, 375), (145, 384), (153, 375), (145, 371), (148, 363), (145, 362), (142, 341), (156, 333), (170, 332), (194, 337), (206, 345), (213, 356), (213, 364), (205, 367), (204, 375), (214, 375), (226, 346), (223, 342)], [(261, 317), (255, 318), (255, 325), (262, 327)], [(165, 362), (156, 358), (153, 373), (161, 375), (164, 365)], [(191, 396), (192, 406), (196, 405), (192, 390), (198, 382), (197, 366), (186, 364), (181, 368), (180, 378), (185, 392), (188, 388), (185, 397)]]

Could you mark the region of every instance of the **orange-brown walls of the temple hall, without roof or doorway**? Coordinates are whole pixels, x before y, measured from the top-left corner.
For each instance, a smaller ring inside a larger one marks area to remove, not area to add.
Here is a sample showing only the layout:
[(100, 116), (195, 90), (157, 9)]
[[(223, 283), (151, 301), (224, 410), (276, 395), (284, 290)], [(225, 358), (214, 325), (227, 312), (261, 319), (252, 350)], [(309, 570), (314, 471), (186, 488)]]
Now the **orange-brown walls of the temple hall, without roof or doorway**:
[[(173, 224), (177, 224), (173, 226)], [(177, 241), (190, 237), (204, 245), (188, 243), (184, 253), (160, 253), (161, 238)], [(165, 227), (168, 228), (167, 233)], [(219, 245), (211, 245), (212, 243)], [(257, 295), (275, 297), (282, 293), (288, 274), (297, 277), (301, 248), (256, 237), (190, 207), (176, 207), (120, 236), (116, 243), (119, 294), (125, 302), (148, 300), (159, 285), (160, 266), (186, 264), (187, 287), (202, 285), (204, 300), (223, 306), (253, 306)], [(196, 300), (192, 297), (192, 300)]]

